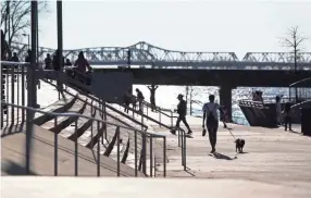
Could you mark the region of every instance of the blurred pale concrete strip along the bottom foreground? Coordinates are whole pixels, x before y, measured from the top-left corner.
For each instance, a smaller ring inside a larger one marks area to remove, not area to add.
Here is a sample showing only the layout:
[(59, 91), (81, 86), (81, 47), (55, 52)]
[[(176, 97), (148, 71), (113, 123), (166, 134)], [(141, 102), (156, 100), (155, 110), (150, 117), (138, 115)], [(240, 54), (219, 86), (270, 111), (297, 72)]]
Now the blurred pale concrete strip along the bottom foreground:
[(240, 180), (2, 177), (3, 198), (310, 198), (303, 187)]

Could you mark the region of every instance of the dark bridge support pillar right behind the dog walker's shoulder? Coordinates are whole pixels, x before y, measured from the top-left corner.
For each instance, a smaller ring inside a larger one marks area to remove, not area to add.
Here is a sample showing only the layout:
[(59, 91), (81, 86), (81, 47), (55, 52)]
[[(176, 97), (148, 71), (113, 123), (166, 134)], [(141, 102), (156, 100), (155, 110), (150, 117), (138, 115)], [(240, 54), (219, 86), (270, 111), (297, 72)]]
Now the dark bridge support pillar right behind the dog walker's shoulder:
[(232, 122), (232, 89), (229, 85), (222, 85), (220, 87), (220, 104), (226, 107), (226, 115), (229, 122)]

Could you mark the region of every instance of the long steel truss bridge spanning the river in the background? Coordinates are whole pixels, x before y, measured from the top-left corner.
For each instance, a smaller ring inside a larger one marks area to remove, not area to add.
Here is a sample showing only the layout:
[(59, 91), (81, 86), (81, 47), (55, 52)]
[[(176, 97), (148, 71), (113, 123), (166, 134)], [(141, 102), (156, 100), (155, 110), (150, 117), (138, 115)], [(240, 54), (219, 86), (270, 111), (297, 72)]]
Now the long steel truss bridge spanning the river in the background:
[[(12, 50), (24, 60), (28, 46), (13, 42)], [(167, 50), (140, 41), (129, 47), (97, 47), (63, 50), (72, 62), (80, 51), (91, 65), (127, 65), (128, 50), (130, 65), (152, 69), (206, 69), (206, 70), (294, 70), (294, 53), (248, 52), (238, 60), (235, 52), (185, 52)], [(39, 61), (55, 49), (39, 47)], [(301, 52), (297, 60), (298, 70), (311, 71), (311, 52)]]

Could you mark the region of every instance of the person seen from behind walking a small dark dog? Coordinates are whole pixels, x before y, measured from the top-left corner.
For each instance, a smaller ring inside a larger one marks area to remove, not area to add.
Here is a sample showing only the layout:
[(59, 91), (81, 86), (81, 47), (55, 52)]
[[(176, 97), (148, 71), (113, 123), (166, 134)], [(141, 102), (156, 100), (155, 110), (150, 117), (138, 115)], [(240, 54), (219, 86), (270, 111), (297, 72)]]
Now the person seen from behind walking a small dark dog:
[[(203, 110), (203, 125), (207, 124), (208, 132), (209, 132), (209, 139), (212, 147), (211, 153), (215, 152), (215, 146), (216, 146), (216, 137), (217, 137), (217, 129), (219, 129), (219, 113), (217, 110), (223, 114), (223, 110), (219, 103), (215, 103), (215, 96), (210, 95), (209, 96), (210, 102), (204, 103), (202, 110)], [(204, 134), (203, 134), (204, 136)]]

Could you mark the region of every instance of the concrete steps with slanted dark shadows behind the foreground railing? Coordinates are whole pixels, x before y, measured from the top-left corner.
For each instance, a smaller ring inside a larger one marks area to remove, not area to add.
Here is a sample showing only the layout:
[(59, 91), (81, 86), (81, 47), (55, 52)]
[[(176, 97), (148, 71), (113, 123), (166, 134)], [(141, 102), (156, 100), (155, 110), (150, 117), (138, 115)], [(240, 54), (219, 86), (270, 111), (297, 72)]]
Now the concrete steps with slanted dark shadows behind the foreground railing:
[[(98, 120), (104, 120), (104, 114), (101, 111), (100, 103), (90, 101), (90, 99), (83, 95), (76, 95), (74, 97), (67, 96), (66, 103), (62, 100), (55, 102), (52, 107), (49, 107), (51, 112), (74, 112), (83, 115), (91, 116)], [(62, 104), (60, 107), (60, 104)], [(57, 123), (55, 123), (57, 121)], [(126, 119), (112, 110), (107, 111), (105, 121), (113, 124), (119, 124), (128, 127), (140, 128), (141, 126), (136, 124), (137, 121), (133, 119)], [(122, 122), (121, 122), (122, 121)], [(117, 134), (116, 126), (112, 124), (102, 125), (92, 120), (85, 117), (54, 117), (50, 115), (40, 115), (36, 117), (35, 123), (40, 127), (57, 133), (62, 137), (75, 141), (88, 148), (96, 150), (97, 144), (100, 143), (100, 153), (116, 161), (117, 159)], [(75, 134), (76, 128), (76, 134)], [(146, 148), (150, 147), (150, 140), (146, 140)], [(157, 141), (153, 140), (153, 145), (157, 146)], [(142, 136), (137, 133), (137, 163), (141, 170), (141, 149), (142, 149)], [(120, 159), (121, 162), (135, 168), (135, 131), (120, 128)], [(147, 159), (150, 158), (148, 149), (146, 149)], [(154, 152), (153, 152), (154, 153)], [(149, 164), (149, 163), (147, 163)], [(148, 169), (150, 165), (147, 165)], [(133, 171), (134, 173), (134, 171)]]

